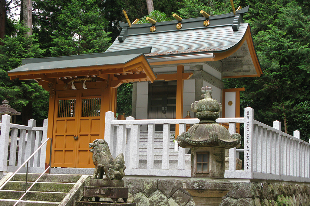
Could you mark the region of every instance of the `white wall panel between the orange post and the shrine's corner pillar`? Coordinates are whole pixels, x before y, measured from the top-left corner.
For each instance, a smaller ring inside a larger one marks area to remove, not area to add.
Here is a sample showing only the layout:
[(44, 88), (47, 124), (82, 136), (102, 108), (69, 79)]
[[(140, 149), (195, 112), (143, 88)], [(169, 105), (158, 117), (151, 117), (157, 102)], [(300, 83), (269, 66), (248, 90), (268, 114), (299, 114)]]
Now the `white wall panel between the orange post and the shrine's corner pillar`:
[(189, 111), (190, 116), (194, 117), (194, 112), (191, 111), (191, 104), (195, 101), (195, 79), (184, 80), (183, 89), (183, 118)]

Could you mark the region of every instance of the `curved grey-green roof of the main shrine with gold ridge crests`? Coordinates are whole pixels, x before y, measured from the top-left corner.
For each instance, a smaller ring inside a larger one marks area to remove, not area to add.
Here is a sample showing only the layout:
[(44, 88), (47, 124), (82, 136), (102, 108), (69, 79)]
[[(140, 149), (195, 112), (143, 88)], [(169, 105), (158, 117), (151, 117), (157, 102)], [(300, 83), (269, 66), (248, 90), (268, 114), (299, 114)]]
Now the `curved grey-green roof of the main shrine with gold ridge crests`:
[[(249, 6), (233, 13), (224, 15), (183, 19), (149, 24), (128, 24), (120, 22), (123, 30), (120, 36), (107, 49), (107, 52), (152, 46), (148, 56), (178, 56), (184, 53), (218, 53), (224, 52), (237, 45), (246, 33), (248, 23), (243, 23), (242, 15)], [(208, 20), (210, 25), (204, 26)], [(182, 28), (177, 29), (176, 24)], [(150, 27), (155, 26), (154, 32)]]

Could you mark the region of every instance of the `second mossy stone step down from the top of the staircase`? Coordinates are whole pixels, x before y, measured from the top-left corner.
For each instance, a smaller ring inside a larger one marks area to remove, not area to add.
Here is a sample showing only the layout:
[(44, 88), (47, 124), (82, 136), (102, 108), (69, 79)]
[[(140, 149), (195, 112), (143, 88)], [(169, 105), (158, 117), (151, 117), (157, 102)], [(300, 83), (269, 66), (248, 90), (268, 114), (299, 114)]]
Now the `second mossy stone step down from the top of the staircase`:
[[(27, 182), (27, 189), (33, 184), (33, 182)], [(75, 183), (67, 182), (37, 182), (31, 188), (31, 191), (43, 191), (43, 192), (69, 192)], [(3, 187), (2, 190), (19, 190), (23, 191), (26, 187), (24, 181), (10, 181)]]

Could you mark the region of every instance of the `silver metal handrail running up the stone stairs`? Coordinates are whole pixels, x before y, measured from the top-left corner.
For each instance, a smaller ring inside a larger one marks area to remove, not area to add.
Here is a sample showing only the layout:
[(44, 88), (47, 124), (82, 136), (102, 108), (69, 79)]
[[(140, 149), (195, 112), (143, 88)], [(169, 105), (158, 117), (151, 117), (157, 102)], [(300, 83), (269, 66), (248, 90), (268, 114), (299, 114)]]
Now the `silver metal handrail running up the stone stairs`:
[[(4, 182), (4, 184), (0, 187), (0, 190), (7, 184), (7, 182), (9, 182), (15, 174), (17, 174), (17, 172), (19, 172), (21, 170), (21, 168), (23, 168), (26, 163), (27, 163), (27, 168), (26, 168), (26, 189), (25, 189), (25, 193), (20, 197), (20, 199), (14, 204), (14, 206), (16, 204), (18, 204), (20, 202), (20, 200), (27, 194), (27, 192), (29, 192), (29, 190), (33, 187), (33, 185), (38, 182), (38, 180), (43, 176), (44, 173), (47, 172), (47, 170), (49, 170), (51, 168), (51, 149), (50, 149), (50, 166), (47, 167), (47, 169), (40, 175), (40, 177), (35, 181), (33, 182), (33, 184), (29, 187), (29, 189), (27, 190), (27, 179), (28, 179), (28, 164), (29, 164), (29, 160), (44, 146), (44, 144), (47, 143), (48, 140), (51, 140), (51, 147), (52, 147), (52, 138), (47, 138), (41, 145), (40, 147), (38, 147), (38, 149), (36, 149), (36, 151), (33, 152), (32, 155), (30, 155), (30, 157), (22, 164), (20, 165), (20, 167), (11, 175), (11, 177), (9, 177), (7, 179), (7, 181)], [(50, 171), (49, 171), (50, 173)], [(26, 197), (25, 197), (26, 198)], [(26, 200), (26, 199), (25, 199)]]

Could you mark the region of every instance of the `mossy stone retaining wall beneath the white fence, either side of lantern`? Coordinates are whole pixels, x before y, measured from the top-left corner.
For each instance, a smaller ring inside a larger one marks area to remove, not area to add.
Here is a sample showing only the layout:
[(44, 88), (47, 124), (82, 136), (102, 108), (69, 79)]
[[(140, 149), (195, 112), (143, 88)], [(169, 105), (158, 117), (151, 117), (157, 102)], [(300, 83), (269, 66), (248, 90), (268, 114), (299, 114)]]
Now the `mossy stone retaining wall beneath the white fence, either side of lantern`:
[[(194, 206), (183, 180), (124, 179), (128, 202), (137, 206)], [(284, 204), (286, 203), (286, 204)], [(310, 186), (297, 184), (234, 182), (220, 206), (310, 206)]]

